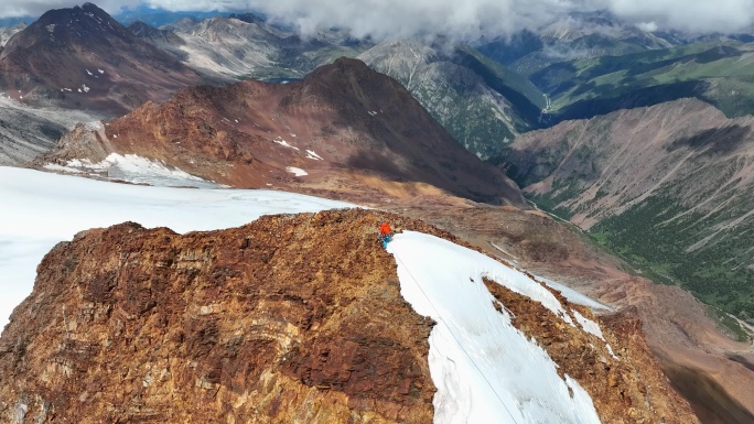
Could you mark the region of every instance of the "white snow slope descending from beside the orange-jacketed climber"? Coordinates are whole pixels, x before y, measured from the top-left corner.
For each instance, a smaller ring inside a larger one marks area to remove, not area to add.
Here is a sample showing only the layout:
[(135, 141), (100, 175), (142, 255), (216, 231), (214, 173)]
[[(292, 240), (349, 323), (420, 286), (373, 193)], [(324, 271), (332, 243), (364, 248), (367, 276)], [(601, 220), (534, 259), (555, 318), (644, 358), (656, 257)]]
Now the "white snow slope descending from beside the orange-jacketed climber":
[[(388, 244), (401, 294), (438, 322), (430, 372), (438, 387), (434, 423), (599, 423), (589, 394), (558, 376), (547, 352), (516, 329), (482, 278), (539, 301), (569, 324), (560, 302), (524, 273), (476, 251), (421, 232)], [(572, 395), (569, 393), (572, 391)]]

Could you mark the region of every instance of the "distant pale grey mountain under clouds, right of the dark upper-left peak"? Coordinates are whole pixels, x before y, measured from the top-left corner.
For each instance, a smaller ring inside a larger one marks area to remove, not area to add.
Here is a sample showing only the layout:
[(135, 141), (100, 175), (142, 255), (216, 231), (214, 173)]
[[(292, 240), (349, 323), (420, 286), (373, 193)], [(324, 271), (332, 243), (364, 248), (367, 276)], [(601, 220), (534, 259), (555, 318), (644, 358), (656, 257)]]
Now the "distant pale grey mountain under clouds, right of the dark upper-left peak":
[(184, 18), (160, 29), (136, 21), (129, 30), (208, 78), (220, 80), (298, 79), (370, 46), (337, 30), (303, 37), (252, 13)]

